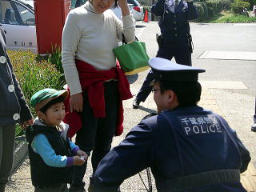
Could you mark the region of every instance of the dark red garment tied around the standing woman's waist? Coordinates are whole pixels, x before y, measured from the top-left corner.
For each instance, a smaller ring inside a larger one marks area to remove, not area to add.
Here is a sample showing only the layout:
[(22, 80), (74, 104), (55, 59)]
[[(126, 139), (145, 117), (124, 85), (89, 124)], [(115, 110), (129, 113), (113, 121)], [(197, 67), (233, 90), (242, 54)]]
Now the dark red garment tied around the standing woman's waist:
[[(110, 79), (118, 80), (118, 117), (115, 135), (122, 134), (123, 131), (123, 107), (122, 100), (132, 98), (130, 93), (130, 85), (125, 74), (122, 72), (117, 62), (117, 66), (110, 70), (96, 70), (87, 62), (76, 60), (76, 66), (79, 74), (80, 83), (82, 86), (82, 93), (87, 92), (90, 106), (93, 108), (95, 118), (105, 118), (105, 99), (104, 99), (104, 82)], [(63, 122), (70, 126), (69, 137), (72, 138), (74, 134), (82, 128), (82, 120), (80, 114), (77, 112), (70, 112), (70, 97), (66, 99), (66, 116)]]

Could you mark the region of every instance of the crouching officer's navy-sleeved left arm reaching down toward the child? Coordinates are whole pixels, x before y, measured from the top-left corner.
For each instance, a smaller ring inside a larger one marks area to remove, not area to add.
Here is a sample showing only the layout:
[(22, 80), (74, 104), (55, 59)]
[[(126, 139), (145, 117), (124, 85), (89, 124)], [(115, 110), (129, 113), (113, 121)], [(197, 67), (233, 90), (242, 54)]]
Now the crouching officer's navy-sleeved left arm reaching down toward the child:
[(91, 191), (117, 191), (126, 178), (145, 170), (154, 161), (154, 132), (145, 124), (135, 126), (106, 154), (94, 174)]

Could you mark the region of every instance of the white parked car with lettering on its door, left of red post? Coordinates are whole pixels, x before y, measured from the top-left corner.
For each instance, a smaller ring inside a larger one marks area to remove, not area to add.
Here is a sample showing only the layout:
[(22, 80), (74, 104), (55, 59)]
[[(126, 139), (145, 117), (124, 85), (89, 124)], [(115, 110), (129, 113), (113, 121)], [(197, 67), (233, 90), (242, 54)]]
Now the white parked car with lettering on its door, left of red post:
[(38, 52), (34, 9), (30, 3), (0, 0), (0, 23), (6, 33), (8, 49)]

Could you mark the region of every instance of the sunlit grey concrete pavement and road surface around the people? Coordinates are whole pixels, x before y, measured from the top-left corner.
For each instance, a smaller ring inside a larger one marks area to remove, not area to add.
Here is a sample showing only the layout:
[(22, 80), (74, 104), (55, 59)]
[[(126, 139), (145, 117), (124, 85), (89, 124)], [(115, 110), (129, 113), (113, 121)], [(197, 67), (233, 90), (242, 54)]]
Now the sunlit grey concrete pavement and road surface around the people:
[[(146, 48), (150, 58), (154, 57), (158, 50), (155, 42), (155, 33), (159, 31), (157, 22), (137, 22), (136, 34), (142, 42), (146, 42)], [(214, 110), (221, 114), (229, 122), (230, 126), (237, 131), (238, 137), (250, 150), (252, 163), (249, 169), (242, 174), (242, 184), (248, 191), (256, 192), (256, 162), (255, 139), (256, 133), (250, 131), (253, 123), (254, 97), (256, 90), (255, 74), (256, 63), (253, 61), (224, 61), (224, 60), (204, 60), (198, 59), (199, 55), (206, 50), (233, 50), (254, 52), (256, 37), (254, 37), (253, 26), (243, 26), (233, 28), (229, 25), (204, 25), (191, 24), (191, 34), (194, 39), (193, 65), (206, 69), (206, 73), (199, 75), (202, 83), (202, 100), (199, 105)], [(218, 33), (216, 31), (218, 31)], [(226, 31), (228, 30), (228, 31)], [(240, 31), (241, 30), (241, 31)], [(246, 30), (246, 31), (244, 31)], [(239, 36), (241, 35), (241, 37)], [(229, 39), (226, 39), (229, 38)], [(236, 44), (239, 40), (239, 45)], [(235, 42), (236, 41), (236, 42)], [(244, 45), (246, 44), (246, 45)], [(255, 53), (256, 54), (256, 53)], [(133, 94), (137, 94), (147, 72), (138, 75), (137, 81), (130, 85)], [(136, 77), (135, 77), (136, 78)], [(227, 83), (229, 82), (229, 83)], [(246, 87), (246, 88), (245, 88)], [(133, 99), (124, 102), (125, 122), (122, 136), (114, 138), (113, 146), (126, 136), (130, 128), (138, 124), (148, 113), (156, 110), (153, 95), (142, 103), (138, 110), (132, 109)], [(127, 159), (129, 161), (129, 159)], [(90, 161), (89, 161), (90, 162)], [(91, 174), (89, 163), (85, 181)], [(142, 178), (146, 179), (146, 172), (142, 172)], [(138, 174), (126, 179), (121, 186), (122, 191), (146, 191)], [(7, 191), (34, 191), (30, 181), (30, 164), (28, 159), (12, 176)], [(154, 187), (154, 191), (155, 187)]]

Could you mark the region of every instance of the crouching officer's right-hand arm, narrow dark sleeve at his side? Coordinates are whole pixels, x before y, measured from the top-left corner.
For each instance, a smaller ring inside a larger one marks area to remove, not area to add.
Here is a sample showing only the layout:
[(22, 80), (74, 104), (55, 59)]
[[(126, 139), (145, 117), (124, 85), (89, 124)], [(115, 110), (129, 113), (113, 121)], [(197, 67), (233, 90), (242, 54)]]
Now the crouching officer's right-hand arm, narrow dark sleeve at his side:
[(236, 141), (238, 142), (238, 148), (241, 154), (241, 158), (242, 158), (242, 166), (240, 168), (241, 173), (247, 170), (247, 166), (250, 162), (250, 153), (249, 151), (246, 149), (246, 146), (244, 146), (241, 142), (241, 140), (238, 138), (238, 135), (236, 134), (235, 131), (233, 131), (234, 134), (234, 138), (236, 139)]

